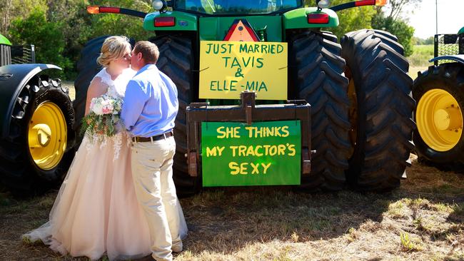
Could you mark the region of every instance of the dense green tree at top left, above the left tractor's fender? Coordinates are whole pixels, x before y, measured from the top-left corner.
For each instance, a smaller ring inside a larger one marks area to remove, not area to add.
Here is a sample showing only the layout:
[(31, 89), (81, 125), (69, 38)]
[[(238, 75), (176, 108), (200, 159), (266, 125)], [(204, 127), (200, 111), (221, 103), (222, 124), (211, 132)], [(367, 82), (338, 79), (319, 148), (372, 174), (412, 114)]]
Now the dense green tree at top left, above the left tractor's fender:
[(15, 44), (34, 44), (37, 63), (52, 63), (65, 71), (72, 67), (69, 58), (63, 56), (63, 25), (48, 21), (43, 10), (32, 11), (26, 19), (14, 19), (9, 32)]

